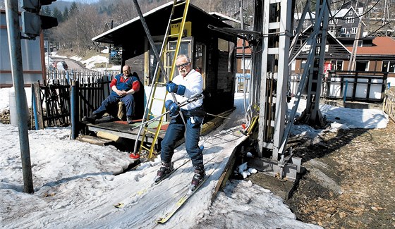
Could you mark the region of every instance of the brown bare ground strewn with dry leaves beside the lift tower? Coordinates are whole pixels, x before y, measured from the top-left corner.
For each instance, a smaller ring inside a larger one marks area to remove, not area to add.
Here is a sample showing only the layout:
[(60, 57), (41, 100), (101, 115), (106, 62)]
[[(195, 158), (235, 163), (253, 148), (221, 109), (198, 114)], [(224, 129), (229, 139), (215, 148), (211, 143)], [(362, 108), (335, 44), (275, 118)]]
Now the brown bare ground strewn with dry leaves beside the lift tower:
[(281, 188), (271, 190), (285, 197), (300, 221), (323, 228), (395, 228), (393, 121), (384, 129), (327, 132), (317, 144), (290, 142), (307, 172), (289, 199)]

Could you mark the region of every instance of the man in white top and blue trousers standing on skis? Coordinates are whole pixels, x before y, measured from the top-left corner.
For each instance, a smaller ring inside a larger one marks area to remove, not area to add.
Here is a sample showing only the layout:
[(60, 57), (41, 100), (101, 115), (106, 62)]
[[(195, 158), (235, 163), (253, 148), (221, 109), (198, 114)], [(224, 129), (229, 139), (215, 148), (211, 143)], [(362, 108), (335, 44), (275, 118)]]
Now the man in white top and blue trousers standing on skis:
[[(176, 67), (180, 74), (177, 75), (173, 81), (166, 84), (167, 92), (174, 93), (176, 101), (178, 102), (185, 101), (196, 94), (201, 94), (203, 92), (202, 75), (193, 70), (190, 58), (186, 55), (177, 56)], [(195, 187), (204, 180), (205, 168), (203, 166), (203, 154), (202, 149), (199, 147), (200, 127), (202, 125), (203, 118), (205, 117), (205, 111), (202, 104), (203, 99), (198, 99), (183, 106), (180, 110), (178, 104), (176, 104), (172, 99), (165, 102), (164, 106), (167, 111), (170, 111), (169, 115), (171, 120), (161, 143), (162, 167), (157, 171), (155, 182), (159, 182), (163, 178), (166, 178), (166, 176), (173, 170), (171, 157), (174, 154), (176, 142), (184, 136), (185, 131), (186, 151), (192, 160), (193, 167), (195, 168), (195, 175), (193, 175), (191, 189), (195, 189)], [(183, 115), (186, 125), (183, 123), (180, 112)]]

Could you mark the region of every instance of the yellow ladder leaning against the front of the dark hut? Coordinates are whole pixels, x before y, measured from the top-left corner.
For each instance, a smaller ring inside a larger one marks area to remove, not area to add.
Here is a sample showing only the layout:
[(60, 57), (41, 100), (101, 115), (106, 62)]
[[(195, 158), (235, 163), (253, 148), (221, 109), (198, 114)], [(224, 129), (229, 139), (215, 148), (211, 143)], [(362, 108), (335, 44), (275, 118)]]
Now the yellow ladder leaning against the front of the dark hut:
[[(182, 10), (183, 7), (183, 16), (180, 18), (175, 18), (174, 14), (176, 11), (176, 8), (181, 8)], [(171, 15), (170, 15), (170, 20), (169, 20), (169, 24), (167, 25), (167, 29), (166, 29), (166, 35), (164, 36), (164, 41), (162, 43), (162, 49), (161, 49), (161, 54), (160, 54), (160, 58), (162, 61), (162, 63), (165, 63), (165, 61), (167, 61), (170, 56), (173, 56), (173, 58), (171, 59), (171, 66), (164, 66), (164, 68), (166, 69), (166, 73), (163, 73), (164, 78), (166, 80), (166, 82), (169, 82), (169, 80), (171, 80), (173, 78), (174, 75), (174, 70), (176, 69), (176, 57), (178, 56), (178, 49), (180, 48), (180, 44), (181, 44), (181, 39), (183, 37), (183, 30), (184, 30), (184, 25), (186, 23), (186, 15), (188, 12), (188, 7), (189, 7), (189, 0), (186, 1), (177, 1), (174, 0), (173, 3), (173, 8), (171, 9)], [(174, 23), (178, 23), (178, 33), (173, 33), (171, 34), (171, 25), (174, 25)], [(169, 39), (174, 39), (175, 37), (177, 37), (177, 44), (176, 44), (176, 49), (169, 49), (168, 48), (168, 41)], [(173, 55), (171, 55), (173, 54)], [(167, 61), (167, 63), (169, 63), (169, 61)], [(149, 151), (150, 153), (148, 154), (148, 159), (152, 158), (152, 154), (154, 152), (154, 147), (155, 144), (157, 142), (158, 136), (159, 136), (159, 132), (161, 130), (162, 124), (163, 124), (163, 120), (164, 120), (164, 116), (162, 115), (160, 118), (155, 117), (153, 115), (152, 111), (152, 105), (154, 104), (154, 101), (160, 101), (162, 102), (162, 114), (165, 112), (165, 107), (164, 107), (164, 102), (166, 99), (166, 95), (167, 95), (167, 91), (164, 95), (164, 98), (159, 98), (159, 97), (155, 97), (155, 92), (157, 90), (157, 85), (165, 85), (165, 82), (159, 82), (159, 78), (161, 76), (162, 70), (161, 68), (159, 68), (159, 61), (157, 64), (157, 67), (155, 68), (155, 78), (152, 82), (152, 92), (151, 92), (151, 96), (150, 98), (148, 98), (147, 100), (147, 107), (145, 108), (146, 112), (145, 112), (145, 117), (143, 117), (142, 119), (142, 123), (150, 123), (149, 120), (152, 119), (156, 119), (158, 120), (158, 125), (157, 128), (150, 128), (151, 130), (149, 130), (148, 128), (148, 124), (142, 125), (142, 127), (140, 128), (139, 134), (138, 136), (141, 136), (141, 142), (140, 142), (140, 149), (139, 152), (140, 154), (143, 151)], [(169, 75), (169, 77), (167, 78), (167, 75)], [(173, 95), (174, 97), (174, 95)], [(140, 135), (141, 132), (141, 135)], [(150, 146), (145, 146), (145, 144), (147, 144), (147, 142), (145, 142), (145, 137), (148, 137), (148, 135), (150, 135), (150, 137), (152, 137), (152, 144)], [(139, 139), (139, 137), (138, 137)], [(138, 142), (138, 139), (136, 139), (136, 144)], [(136, 149), (136, 147), (135, 147)]]

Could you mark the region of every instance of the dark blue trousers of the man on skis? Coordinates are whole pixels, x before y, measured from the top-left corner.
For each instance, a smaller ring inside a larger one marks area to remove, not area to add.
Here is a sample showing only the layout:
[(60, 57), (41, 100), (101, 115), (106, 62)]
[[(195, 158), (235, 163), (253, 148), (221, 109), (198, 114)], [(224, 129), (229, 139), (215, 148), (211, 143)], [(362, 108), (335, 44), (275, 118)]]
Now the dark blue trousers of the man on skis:
[[(203, 165), (202, 149), (199, 147), (200, 126), (203, 118), (196, 116), (184, 116), (184, 118), (186, 119), (186, 126), (183, 124), (181, 116), (170, 120), (169, 127), (161, 143), (161, 160), (166, 163), (171, 162), (176, 142), (183, 137), (183, 133), (186, 130), (186, 152), (192, 160), (193, 167), (196, 168)], [(193, 118), (193, 121), (191, 118)]]

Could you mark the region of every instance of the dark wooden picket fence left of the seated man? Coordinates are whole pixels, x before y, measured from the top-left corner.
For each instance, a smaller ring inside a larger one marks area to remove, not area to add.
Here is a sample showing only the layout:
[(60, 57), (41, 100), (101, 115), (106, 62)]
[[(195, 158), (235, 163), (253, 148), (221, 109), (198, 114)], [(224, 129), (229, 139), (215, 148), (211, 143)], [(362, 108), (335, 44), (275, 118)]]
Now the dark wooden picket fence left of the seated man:
[(71, 83), (78, 85), (78, 110), (80, 119), (97, 109), (110, 93), (109, 82), (117, 71), (47, 70), (47, 80), (32, 85), (32, 112), (36, 129), (47, 126), (70, 125)]

